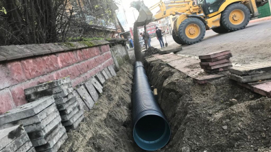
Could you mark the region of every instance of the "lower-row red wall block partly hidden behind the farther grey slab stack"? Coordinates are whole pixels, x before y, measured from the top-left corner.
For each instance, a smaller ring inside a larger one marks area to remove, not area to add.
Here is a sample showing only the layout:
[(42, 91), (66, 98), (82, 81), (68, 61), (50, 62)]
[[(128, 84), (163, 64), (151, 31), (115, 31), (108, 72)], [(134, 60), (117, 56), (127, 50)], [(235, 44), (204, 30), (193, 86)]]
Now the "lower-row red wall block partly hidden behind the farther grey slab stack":
[(23, 105), (25, 103), (27, 103), (26, 99), (25, 99), (25, 89), (36, 86), (38, 84), (43, 83), (43, 81), (39, 81), (38, 79), (32, 79), (30, 81), (27, 81), (23, 84), (18, 84), (16, 86), (13, 86), (12, 88), (10, 88), (10, 91), (12, 93), (12, 97), (14, 100), (14, 103), (16, 106), (19, 105)]

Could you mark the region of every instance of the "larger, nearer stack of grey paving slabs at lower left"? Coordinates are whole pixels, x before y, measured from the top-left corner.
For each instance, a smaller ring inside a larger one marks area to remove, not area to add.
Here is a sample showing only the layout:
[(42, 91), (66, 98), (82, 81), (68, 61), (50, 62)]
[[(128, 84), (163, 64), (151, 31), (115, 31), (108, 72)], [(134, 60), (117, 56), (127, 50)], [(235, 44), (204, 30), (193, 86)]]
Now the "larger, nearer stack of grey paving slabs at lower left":
[(25, 148), (30, 151), (34, 151), (32, 145), (36, 151), (58, 151), (68, 138), (53, 97), (21, 105), (0, 116), (0, 129), (20, 124), (30, 138)]

